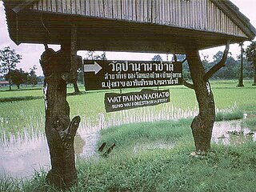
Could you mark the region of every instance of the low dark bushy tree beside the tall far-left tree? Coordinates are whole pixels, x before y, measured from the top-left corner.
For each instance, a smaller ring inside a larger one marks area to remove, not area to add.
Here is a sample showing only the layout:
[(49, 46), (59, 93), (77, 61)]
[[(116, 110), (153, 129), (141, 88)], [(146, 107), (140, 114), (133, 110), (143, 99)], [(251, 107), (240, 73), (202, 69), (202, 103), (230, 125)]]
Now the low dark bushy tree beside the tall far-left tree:
[(8, 74), (5, 75), (5, 78), (9, 83), (15, 84), (17, 88), (20, 88), (20, 85), (27, 81), (28, 73), (24, 70), (10, 70)]

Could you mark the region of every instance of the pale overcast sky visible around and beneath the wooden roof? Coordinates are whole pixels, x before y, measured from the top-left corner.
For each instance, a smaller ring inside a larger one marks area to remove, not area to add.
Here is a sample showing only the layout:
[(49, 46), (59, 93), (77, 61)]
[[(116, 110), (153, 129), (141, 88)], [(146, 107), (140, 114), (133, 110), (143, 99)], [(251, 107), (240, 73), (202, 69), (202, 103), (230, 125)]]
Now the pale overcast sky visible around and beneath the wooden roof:
[[(240, 12), (245, 14), (247, 18), (250, 19), (250, 23), (256, 28), (256, 0), (231, 0), (234, 5), (238, 6)], [(254, 39), (256, 40), (256, 39)], [(250, 45), (250, 42), (244, 43), (244, 48)], [(0, 49), (5, 46), (10, 46), (11, 49), (14, 49), (16, 53), (22, 54), (22, 61), (18, 63), (17, 68), (22, 68), (22, 70), (30, 70), (34, 65), (37, 66), (36, 73), (38, 75), (42, 75), (42, 69), (39, 64), (39, 58), (44, 51), (44, 46), (38, 44), (26, 44), (22, 43), (17, 46), (12, 40), (9, 38), (7, 26), (6, 26), (6, 15), (4, 11), (4, 6), (0, 0)], [(50, 46), (54, 50), (58, 50), (59, 46)], [(213, 57), (219, 50), (224, 50), (225, 47), (215, 47), (209, 50), (201, 50), (200, 54), (209, 55), (209, 59)], [(230, 52), (232, 56), (235, 58), (238, 54), (240, 54), (240, 48), (238, 44), (230, 45)], [(102, 54), (102, 52), (96, 52), (97, 54)], [(85, 51), (78, 51), (78, 54), (83, 58), (85, 57)], [(138, 60), (138, 61), (150, 61), (151, 58), (154, 57), (154, 53), (152, 54), (144, 54), (144, 53), (115, 53), (115, 52), (106, 52), (106, 58), (108, 60)], [(166, 54), (161, 54), (162, 58), (166, 60)], [(169, 55), (169, 60), (171, 55)]]

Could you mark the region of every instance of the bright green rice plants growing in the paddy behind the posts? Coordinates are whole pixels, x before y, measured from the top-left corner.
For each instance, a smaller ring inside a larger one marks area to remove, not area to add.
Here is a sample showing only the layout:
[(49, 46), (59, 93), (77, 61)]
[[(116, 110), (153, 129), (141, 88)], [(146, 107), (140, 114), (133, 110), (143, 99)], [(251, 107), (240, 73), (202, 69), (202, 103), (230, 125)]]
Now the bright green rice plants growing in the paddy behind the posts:
[[(215, 105), (219, 110), (217, 120), (230, 120), (242, 118), (243, 113), (254, 113), (256, 108), (256, 87), (251, 86), (251, 82), (245, 82), (244, 88), (237, 87), (235, 81), (212, 82)], [(70, 103), (70, 116), (80, 115), (82, 123), (90, 122), (97, 125), (104, 116), (106, 122), (114, 118), (126, 119), (127, 115), (138, 116), (146, 114), (158, 117), (159, 114), (168, 114), (170, 112), (179, 113), (178, 110), (198, 110), (198, 103), (195, 98), (194, 90), (184, 86), (170, 86), (170, 103), (138, 108), (133, 110), (121, 111), (106, 114), (104, 108), (104, 94), (106, 91), (87, 91), (86, 94), (68, 97)], [(83, 90), (83, 87), (80, 87)], [(163, 87), (162, 89), (166, 89)], [(140, 89), (126, 89), (123, 93)], [(72, 93), (73, 87), (68, 87), (68, 92)], [(119, 90), (110, 90), (119, 92)], [(26, 98), (26, 97), (43, 97), (42, 90), (19, 90), (19, 91), (0, 91), (0, 100)], [(12, 98), (12, 99), (13, 99)], [(235, 105), (235, 109), (234, 109)], [(8, 139), (10, 134), (23, 133), (24, 129), (33, 135), (34, 130), (44, 131), (44, 102), (43, 99), (34, 99), (29, 101), (0, 102), (0, 139), (3, 138), (3, 131)], [(168, 110), (169, 109), (169, 110)], [(229, 112), (223, 109), (234, 109)], [(171, 111), (173, 110), (173, 111)], [(222, 111), (221, 111), (222, 110)], [(81, 126), (83, 126), (81, 124)], [(22, 135), (22, 134), (21, 134)]]

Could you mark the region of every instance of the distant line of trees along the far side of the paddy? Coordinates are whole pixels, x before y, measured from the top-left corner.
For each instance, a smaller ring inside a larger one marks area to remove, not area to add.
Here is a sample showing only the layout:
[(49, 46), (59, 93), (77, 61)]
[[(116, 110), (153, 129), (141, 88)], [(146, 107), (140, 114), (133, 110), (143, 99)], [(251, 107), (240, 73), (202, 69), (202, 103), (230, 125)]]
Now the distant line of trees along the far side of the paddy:
[[(222, 59), (223, 52), (218, 51), (214, 54), (213, 60), (210, 61), (208, 55), (202, 55), (202, 64), (206, 71), (216, 65)], [(186, 55), (178, 54), (176, 58), (178, 61), (183, 61)], [(102, 55), (95, 54), (94, 51), (87, 51), (85, 59), (87, 60), (106, 60), (106, 53)], [(4, 47), (0, 50), (0, 79), (4, 78), (9, 82), (10, 90), (11, 85), (16, 85), (18, 89), (20, 85), (35, 86), (38, 82), (43, 80), (43, 77), (38, 77), (35, 74), (36, 66), (30, 68), (30, 71), (17, 69), (18, 62), (22, 60), (22, 55), (17, 54), (15, 50), (11, 50), (10, 46)], [(162, 61), (159, 54), (154, 55), (153, 61)], [(241, 60), (243, 66), (241, 68)], [(211, 79), (238, 79), (239, 74), (243, 74), (243, 78), (254, 78), (254, 86), (256, 86), (256, 41), (251, 42), (246, 50), (242, 50), (242, 54), (234, 58), (231, 54), (226, 58), (226, 66), (218, 70)], [(190, 69), (187, 62), (183, 63), (183, 78), (190, 80)], [(83, 66), (78, 68), (78, 82), (83, 83)], [(77, 86), (78, 87), (78, 86)], [(78, 90), (79, 91), (79, 90)]]

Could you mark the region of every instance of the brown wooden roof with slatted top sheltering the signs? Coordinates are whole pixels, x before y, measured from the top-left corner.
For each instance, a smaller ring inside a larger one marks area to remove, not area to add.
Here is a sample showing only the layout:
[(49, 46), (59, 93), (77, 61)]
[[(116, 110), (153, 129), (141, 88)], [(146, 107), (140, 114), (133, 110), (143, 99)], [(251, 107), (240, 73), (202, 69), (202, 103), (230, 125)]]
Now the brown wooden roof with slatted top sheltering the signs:
[(256, 30), (228, 0), (5, 0), (17, 44), (61, 44), (77, 27), (78, 50), (185, 52), (252, 40)]

